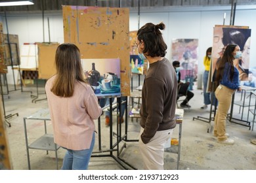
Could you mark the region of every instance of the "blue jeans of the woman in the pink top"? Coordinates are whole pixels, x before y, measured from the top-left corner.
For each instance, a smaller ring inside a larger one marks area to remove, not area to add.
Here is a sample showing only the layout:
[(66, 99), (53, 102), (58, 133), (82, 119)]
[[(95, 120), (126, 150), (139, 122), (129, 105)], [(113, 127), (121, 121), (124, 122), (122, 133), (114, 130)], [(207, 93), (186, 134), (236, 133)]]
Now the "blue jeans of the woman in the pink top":
[[(75, 142), (74, 142), (75, 143)], [(93, 139), (89, 149), (85, 150), (70, 150), (67, 152), (63, 159), (62, 170), (87, 170), (93, 147), (95, 146), (95, 133), (93, 133)]]

